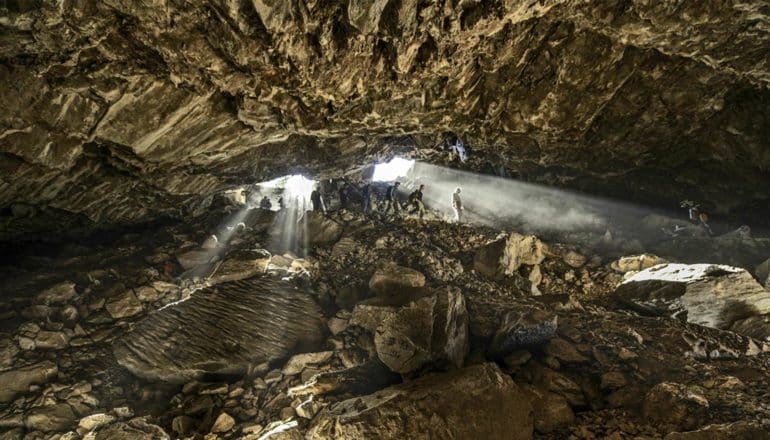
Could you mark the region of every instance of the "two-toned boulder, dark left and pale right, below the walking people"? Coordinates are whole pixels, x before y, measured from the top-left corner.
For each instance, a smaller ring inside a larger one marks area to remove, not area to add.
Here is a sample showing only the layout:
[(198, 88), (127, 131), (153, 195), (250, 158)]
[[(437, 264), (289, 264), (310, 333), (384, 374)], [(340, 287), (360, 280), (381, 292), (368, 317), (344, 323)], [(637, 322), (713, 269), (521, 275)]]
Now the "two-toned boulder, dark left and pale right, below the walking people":
[(490, 278), (512, 275), (522, 265), (540, 264), (546, 257), (546, 245), (534, 235), (515, 232), (476, 251), (473, 269)]

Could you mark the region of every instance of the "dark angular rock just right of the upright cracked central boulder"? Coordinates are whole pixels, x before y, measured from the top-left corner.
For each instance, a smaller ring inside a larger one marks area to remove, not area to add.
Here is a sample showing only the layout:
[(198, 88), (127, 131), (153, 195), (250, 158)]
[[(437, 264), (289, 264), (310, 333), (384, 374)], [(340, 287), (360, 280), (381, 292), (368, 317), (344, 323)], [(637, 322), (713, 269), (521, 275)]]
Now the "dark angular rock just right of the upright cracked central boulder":
[(505, 314), (495, 332), (489, 352), (502, 357), (516, 350), (544, 345), (556, 334), (557, 320), (553, 313), (531, 307), (512, 310)]

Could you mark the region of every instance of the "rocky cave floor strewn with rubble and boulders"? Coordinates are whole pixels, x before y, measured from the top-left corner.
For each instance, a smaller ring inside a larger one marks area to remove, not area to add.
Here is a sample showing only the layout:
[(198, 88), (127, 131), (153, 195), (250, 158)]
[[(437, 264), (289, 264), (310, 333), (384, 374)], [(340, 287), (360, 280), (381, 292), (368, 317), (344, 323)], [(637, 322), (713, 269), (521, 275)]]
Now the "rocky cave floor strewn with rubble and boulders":
[[(619, 302), (675, 256), (345, 210), (307, 215), (304, 258), (261, 210), (201, 247), (243, 210), (219, 202), (2, 268), (0, 439), (770, 438), (762, 310), (716, 329)], [(709, 263), (767, 250), (688, 240)], [(699, 285), (770, 302), (751, 276)]]

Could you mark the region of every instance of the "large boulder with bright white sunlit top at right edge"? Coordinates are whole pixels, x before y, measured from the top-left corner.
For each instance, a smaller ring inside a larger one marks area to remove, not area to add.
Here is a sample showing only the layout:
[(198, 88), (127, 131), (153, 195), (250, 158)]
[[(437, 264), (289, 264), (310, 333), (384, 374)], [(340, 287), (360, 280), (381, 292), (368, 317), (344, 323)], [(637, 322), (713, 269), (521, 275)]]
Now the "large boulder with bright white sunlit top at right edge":
[(770, 291), (743, 269), (710, 264), (662, 264), (624, 281), (613, 293), (622, 306), (675, 316), (707, 327), (770, 313)]

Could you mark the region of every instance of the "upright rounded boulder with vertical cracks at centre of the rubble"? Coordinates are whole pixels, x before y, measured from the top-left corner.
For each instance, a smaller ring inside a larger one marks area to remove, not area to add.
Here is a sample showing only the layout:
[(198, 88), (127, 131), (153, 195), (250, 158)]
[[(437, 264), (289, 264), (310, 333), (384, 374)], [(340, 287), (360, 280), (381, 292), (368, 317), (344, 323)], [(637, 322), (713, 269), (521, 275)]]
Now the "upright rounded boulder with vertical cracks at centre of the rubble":
[(377, 356), (410, 373), (428, 364), (461, 367), (468, 353), (468, 312), (456, 290), (432, 291), (399, 307), (377, 326)]

